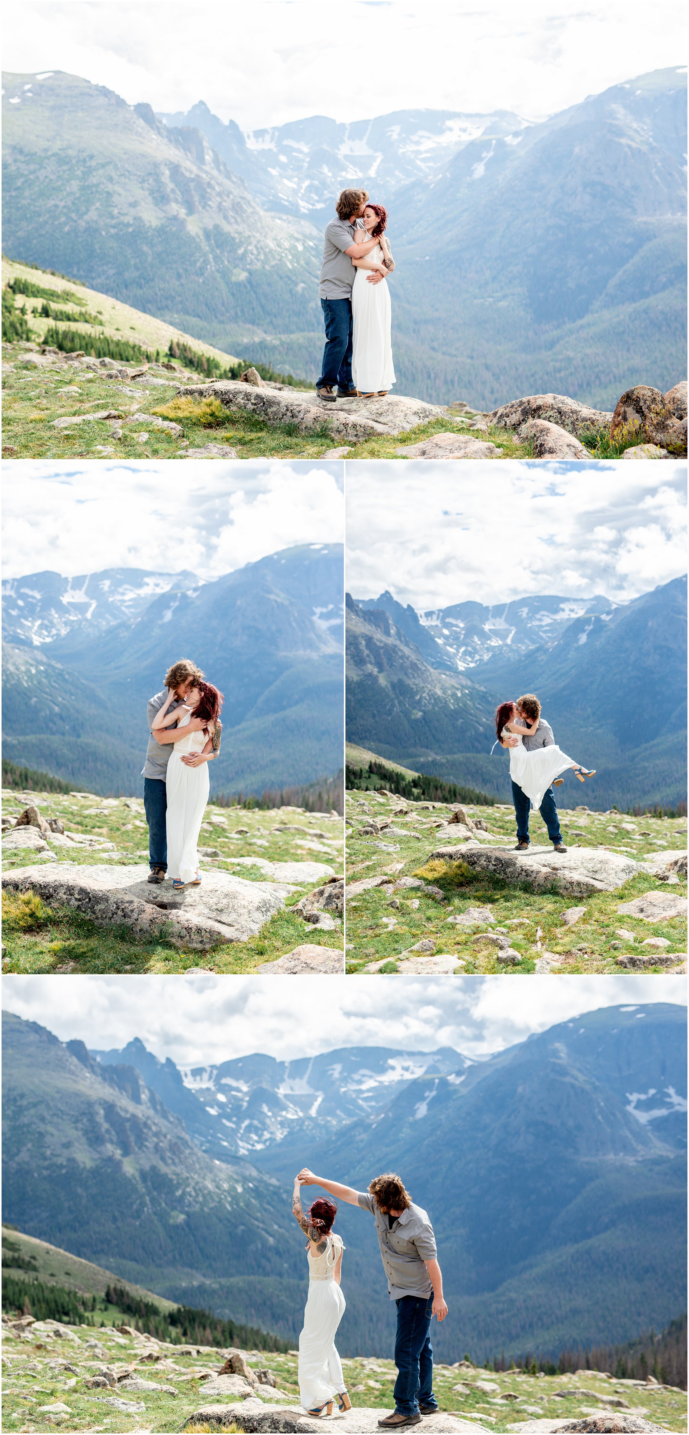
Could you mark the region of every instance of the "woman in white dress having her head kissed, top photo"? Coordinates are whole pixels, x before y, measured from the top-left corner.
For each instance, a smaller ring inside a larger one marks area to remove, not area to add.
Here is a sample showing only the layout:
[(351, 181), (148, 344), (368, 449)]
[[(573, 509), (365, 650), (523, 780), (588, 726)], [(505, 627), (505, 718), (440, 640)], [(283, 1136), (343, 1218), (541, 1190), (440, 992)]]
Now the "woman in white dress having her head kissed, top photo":
[[(379, 240), (363, 260), (352, 260), (356, 268), (352, 288), (352, 377), (362, 399), (382, 399), (395, 383), (390, 343), (390, 294), (385, 280), (395, 268), (390, 245), (385, 237), (388, 211), (382, 204), (367, 204), (363, 211), (366, 237)], [(360, 231), (357, 231), (360, 232)], [(370, 273), (383, 276), (372, 284)]]

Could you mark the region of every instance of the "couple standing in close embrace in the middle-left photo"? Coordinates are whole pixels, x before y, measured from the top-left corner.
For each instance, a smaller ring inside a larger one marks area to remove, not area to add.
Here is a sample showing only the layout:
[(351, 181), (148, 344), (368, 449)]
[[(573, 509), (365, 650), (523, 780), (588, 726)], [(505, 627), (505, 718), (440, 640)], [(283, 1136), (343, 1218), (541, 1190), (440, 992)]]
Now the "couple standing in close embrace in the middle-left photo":
[(220, 752), (222, 693), (187, 657), (165, 673), (162, 692), (149, 697), (144, 808), (148, 822), (149, 883), (169, 871), (174, 891), (200, 887), (198, 834), (208, 802), (208, 763)]

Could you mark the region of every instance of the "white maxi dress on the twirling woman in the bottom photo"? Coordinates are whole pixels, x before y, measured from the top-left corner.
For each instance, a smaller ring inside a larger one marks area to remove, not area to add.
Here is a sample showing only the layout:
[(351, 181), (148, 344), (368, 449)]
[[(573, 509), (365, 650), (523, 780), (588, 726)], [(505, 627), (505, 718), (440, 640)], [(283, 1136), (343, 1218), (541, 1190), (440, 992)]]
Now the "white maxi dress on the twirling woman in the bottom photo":
[(344, 1314), (344, 1296), (334, 1279), (334, 1267), (344, 1250), (342, 1236), (329, 1236), (323, 1256), (307, 1254), (309, 1296), (304, 1329), (299, 1337), (299, 1399), (304, 1411), (314, 1411), (346, 1391), (342, 1362), (334, 1346), (337, 1326)]

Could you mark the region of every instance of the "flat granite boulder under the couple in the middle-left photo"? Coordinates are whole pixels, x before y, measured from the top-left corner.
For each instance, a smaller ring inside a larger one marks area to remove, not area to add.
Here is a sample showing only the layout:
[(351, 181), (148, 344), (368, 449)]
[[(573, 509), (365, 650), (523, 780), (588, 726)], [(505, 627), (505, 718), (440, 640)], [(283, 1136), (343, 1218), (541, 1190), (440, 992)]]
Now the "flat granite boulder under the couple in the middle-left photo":
[(201, 887), (172, 891), (172, 883), (148, 883), (148, 867), (20, 867), (4, 872), (3, 887), (34, 891), (50, 905), (73, 907), (99, 927), (125, 926), (141, 940), (167, 938), (178, 947), (207, 950), (222, 941), (247, 941), (281, 911), (290, 891), (276, 883), (248, 883), (230, 872), (204, 872)]

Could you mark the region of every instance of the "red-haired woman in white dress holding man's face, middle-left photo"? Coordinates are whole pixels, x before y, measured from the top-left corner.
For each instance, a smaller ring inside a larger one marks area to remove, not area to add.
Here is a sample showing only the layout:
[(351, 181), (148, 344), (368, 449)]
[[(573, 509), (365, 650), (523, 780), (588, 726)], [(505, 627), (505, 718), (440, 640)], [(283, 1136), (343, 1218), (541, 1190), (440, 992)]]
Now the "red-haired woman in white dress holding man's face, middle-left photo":
[(201, 884), (197, 842), (208, 802), (208, 762), (220, 749), (224, 697), (212, 683), (197, 683), (187, 693), (182, 706), (169, 712), (174, 697), (175, 693), (168, 692), (151, 732), (158, 742), (165, 742), (165, 728), (174, 723), (187, 728), (194, 720), (189, 736), (175, 742), (167, 771), (168, 872), (172, 890), (182, 891), (184, 887)]

